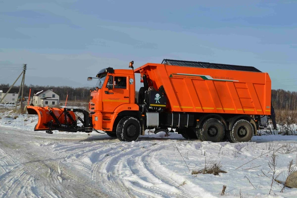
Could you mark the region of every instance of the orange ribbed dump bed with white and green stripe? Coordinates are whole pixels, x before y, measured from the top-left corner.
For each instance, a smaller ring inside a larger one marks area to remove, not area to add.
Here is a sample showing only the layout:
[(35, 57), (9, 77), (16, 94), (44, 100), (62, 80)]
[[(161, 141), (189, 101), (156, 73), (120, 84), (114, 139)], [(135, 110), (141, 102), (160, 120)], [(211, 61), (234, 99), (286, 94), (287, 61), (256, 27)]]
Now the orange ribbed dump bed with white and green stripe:
[(168, 111), (270, 115), (268, 73), (148, 63), (135, 70), (164, 87)]

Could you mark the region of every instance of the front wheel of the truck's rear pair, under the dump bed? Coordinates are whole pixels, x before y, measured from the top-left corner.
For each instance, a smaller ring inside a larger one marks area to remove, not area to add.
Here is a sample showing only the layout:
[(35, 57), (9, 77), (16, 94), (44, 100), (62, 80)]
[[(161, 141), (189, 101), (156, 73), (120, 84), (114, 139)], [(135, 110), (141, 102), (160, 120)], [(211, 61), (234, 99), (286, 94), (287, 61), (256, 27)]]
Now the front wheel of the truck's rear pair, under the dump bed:
[(225, 127), (220, 120), (210, 118), (196, 133), (201, 141), (221, 142), (225, 136)]

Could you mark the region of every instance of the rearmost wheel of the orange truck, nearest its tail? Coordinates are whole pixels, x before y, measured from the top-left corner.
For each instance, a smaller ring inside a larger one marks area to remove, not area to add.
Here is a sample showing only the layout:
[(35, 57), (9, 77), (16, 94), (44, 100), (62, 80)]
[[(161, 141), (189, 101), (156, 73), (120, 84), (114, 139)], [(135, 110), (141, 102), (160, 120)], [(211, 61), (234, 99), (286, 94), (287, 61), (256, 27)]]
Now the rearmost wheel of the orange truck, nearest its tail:
[(253, 128), (249, 121), (241, 119), (235, 122), (228, 134), (231, 143), (249, 142), (253, 136)]

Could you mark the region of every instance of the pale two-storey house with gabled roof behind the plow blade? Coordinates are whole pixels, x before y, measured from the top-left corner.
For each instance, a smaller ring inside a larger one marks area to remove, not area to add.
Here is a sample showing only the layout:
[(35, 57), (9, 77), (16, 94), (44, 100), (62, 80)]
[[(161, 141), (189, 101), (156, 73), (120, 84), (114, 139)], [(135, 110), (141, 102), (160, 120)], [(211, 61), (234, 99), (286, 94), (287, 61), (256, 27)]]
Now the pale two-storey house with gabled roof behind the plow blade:
[(60, 102), (60, 97), (52, 90), (34, 91), (34, 106), (55, 106)]

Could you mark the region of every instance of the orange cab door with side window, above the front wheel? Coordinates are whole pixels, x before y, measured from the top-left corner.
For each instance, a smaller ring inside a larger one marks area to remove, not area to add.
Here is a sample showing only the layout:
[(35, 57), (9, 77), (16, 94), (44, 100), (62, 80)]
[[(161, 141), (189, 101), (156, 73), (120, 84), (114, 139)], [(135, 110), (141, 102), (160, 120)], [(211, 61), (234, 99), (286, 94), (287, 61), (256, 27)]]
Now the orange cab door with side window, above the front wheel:
[[(119, 83), (119, 79), (122, 82)], [(130, 103), (129, 76), (110, 75), (102, 92), (102, 111), (113, 112), (119, 105)]]

